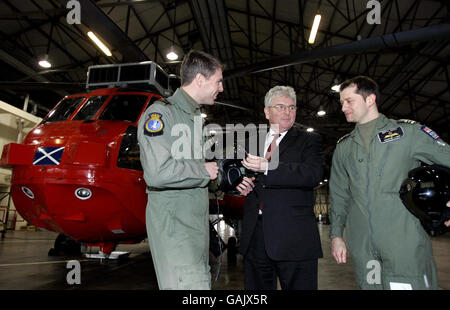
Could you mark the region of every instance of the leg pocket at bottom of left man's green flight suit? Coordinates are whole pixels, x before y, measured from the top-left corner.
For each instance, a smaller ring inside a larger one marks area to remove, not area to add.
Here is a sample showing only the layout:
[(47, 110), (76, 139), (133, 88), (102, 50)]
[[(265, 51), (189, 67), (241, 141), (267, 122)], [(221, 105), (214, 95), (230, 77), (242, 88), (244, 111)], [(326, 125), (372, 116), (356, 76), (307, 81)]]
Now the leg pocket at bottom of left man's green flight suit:
[(175, 266), (179, 290), (210, 290), (211, 275), (205, 265)]

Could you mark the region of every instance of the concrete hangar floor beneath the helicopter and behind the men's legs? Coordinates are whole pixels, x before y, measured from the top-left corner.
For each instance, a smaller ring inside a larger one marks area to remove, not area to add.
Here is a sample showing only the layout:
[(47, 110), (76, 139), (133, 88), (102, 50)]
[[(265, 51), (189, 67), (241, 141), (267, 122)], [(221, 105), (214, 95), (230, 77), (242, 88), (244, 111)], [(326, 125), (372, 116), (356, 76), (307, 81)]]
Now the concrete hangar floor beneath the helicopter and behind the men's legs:
[[(331, 258), (329, 226), (319, 225), (324, 258), (319, 260), (320, 290), (355, 290), (351, 261), (337, 265)], [(223, 222), (218, 231), (224, 240), (234, 235)], [(49, 257), (57, 234), (46, 231), (8, 231), (0, 239), (0, 290), (157, 290), (156, 276), (146, 241), (135, 245), (119, 245), (118, 251), (130, 251), (124, 261), (95, 260), (80, 257)], [(450, 233), (432, 238), (438, 266), (440, 289), (450, 289)], [(98, 248), (90, 248), (96, 253)], [(69, 285), (67, 262), (81, 264), (81, 284)], [(227, 261), (226, 252), (211, 259), (214, 290), (243, 289), (242, 257), (236, 263)], [(219, 272), (218, 272), (219, 271)], [(218, 275), (218, 276), (217, 276)], [(216, 279), (217, 278), (217, 279)]]

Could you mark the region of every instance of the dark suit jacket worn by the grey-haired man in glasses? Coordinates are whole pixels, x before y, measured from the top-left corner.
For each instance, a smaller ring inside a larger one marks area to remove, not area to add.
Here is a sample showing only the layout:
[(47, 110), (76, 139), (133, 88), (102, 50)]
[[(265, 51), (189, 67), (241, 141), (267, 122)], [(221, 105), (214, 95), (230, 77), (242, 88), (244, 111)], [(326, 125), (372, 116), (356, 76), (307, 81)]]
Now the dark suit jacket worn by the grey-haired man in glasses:
[[(262, 148), (259, 156), (263, 156)], [(322, 139), (291, 128), (278, 148), (278, 167), (267, 175), (258, 174), (255, 188), (246, 198), (240, 252), (245, 255), (248, 250), (262, 202), (265, 247), (271, 259), (320, 258), (313, 188), (323, 175)]]

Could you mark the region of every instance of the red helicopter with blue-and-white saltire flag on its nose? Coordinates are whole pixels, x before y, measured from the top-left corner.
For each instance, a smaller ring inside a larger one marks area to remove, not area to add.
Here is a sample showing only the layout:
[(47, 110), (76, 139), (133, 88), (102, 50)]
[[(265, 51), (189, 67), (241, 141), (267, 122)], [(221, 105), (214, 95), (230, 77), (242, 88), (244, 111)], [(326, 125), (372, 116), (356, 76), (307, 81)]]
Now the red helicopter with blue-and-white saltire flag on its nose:
[[(178, 86), (151, 61), (89, 67), (89, 92), (64, 97), (21, 144), (4, 146), (0, 166), (12, 167), (21, 216), (59, 232), (55, 248), (68, 236), (109, 255), (118, 243), (144, 240), (147, 194), (136, 126), (149, 105)], [(232, 200), (242, 207), (243, 199)]]

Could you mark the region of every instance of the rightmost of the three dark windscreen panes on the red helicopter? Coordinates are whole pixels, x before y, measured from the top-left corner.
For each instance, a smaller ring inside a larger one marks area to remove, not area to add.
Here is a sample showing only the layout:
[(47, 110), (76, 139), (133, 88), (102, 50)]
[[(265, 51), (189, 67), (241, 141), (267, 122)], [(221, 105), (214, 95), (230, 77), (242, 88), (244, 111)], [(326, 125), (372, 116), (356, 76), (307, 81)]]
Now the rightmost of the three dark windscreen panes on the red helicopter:
[(98, 119), (135, 122), (147, 101), (144, 95), (116, 95)]

